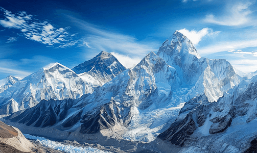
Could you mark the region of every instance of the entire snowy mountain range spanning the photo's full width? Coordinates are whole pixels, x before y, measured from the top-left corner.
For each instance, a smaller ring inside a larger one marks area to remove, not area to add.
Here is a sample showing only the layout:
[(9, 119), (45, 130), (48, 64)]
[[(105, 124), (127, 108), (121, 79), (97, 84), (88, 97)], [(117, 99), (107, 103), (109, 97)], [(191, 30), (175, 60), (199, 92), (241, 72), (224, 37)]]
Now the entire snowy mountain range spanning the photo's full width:
[(224, 59), (200, 57), (176, 31), (134, 68), (101, 52), (72, 69), (40, 69), (0, 93), (0, 113), (21, 131), (57, 139), (244, 152), (257, 140), (257, 77), (238, 73)]

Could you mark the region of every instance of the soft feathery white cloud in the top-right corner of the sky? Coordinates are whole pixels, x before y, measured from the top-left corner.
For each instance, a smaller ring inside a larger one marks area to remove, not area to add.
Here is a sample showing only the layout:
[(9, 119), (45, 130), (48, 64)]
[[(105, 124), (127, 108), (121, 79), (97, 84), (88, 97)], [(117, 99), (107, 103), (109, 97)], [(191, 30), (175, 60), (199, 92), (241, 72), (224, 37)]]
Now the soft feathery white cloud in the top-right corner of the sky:
[(204, 21), (219, 25), (230, 25), (230, 26), (240, 26), (240, 25), (251, 25), (256, 24), (252, 18), (250, 17), (250, 14), (252, 14), (253, 11), (249, 9), (249, 7), (253, 4), (251, 2), (234, 2), (228, 5), (226, 12), (227, 14), (224, 14), (224, 16), (218, 16), (216, 17), (213, 14), (206, 15)]

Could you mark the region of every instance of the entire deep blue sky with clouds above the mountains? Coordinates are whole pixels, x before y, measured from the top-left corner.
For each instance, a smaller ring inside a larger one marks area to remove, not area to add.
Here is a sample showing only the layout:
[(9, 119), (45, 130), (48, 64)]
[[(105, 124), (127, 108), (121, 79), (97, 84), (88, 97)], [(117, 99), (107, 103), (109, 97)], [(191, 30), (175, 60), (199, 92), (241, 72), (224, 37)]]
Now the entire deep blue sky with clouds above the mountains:
[(55, 62), (73, 68), (102, 50), (132, 67), (176, 30), (201, 57), (257, 70), (255, 1), (10, 0), (0, 7), (0, 79)]

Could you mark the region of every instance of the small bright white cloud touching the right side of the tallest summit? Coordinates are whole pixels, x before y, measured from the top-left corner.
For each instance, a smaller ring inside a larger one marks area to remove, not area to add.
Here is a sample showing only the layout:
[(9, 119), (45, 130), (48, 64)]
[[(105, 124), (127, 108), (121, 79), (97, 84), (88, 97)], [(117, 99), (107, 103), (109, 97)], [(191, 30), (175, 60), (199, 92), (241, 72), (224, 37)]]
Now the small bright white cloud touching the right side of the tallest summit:
[(189, 31), (187, 29), (181, 29), (178, 32), (188, 37), (194, 45), (197, 45), (202, 40), (202, 38), (206, 35), (213, 36), (220, 33), (219, 31), (213, 32), (211, 28), (203, 28), (200, 31), (195, 31), (195, 30)]

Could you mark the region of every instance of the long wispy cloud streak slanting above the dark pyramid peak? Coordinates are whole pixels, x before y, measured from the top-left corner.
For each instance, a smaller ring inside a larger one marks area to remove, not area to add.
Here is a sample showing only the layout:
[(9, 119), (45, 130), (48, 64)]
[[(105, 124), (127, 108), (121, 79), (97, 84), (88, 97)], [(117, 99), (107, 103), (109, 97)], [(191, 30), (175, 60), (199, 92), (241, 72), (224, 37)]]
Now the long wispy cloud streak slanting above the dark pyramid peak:
[[(87, 49), (100, 52), (105, 50), (111, 52), (121, 61), (125, 67), (132, 67), (137, 64), (149, 52), (156, 52), (159, 42), (156, 41), (139, 41), (133, 36), (104, 30), (102, 27), (68, 16), (76, 25), (85, 33), (82, 43), (79, 46), (85, 46)], [(126, 55), (126, 56), (125, 56)], [(129, 62), (130, 60), (130, 62)]]

